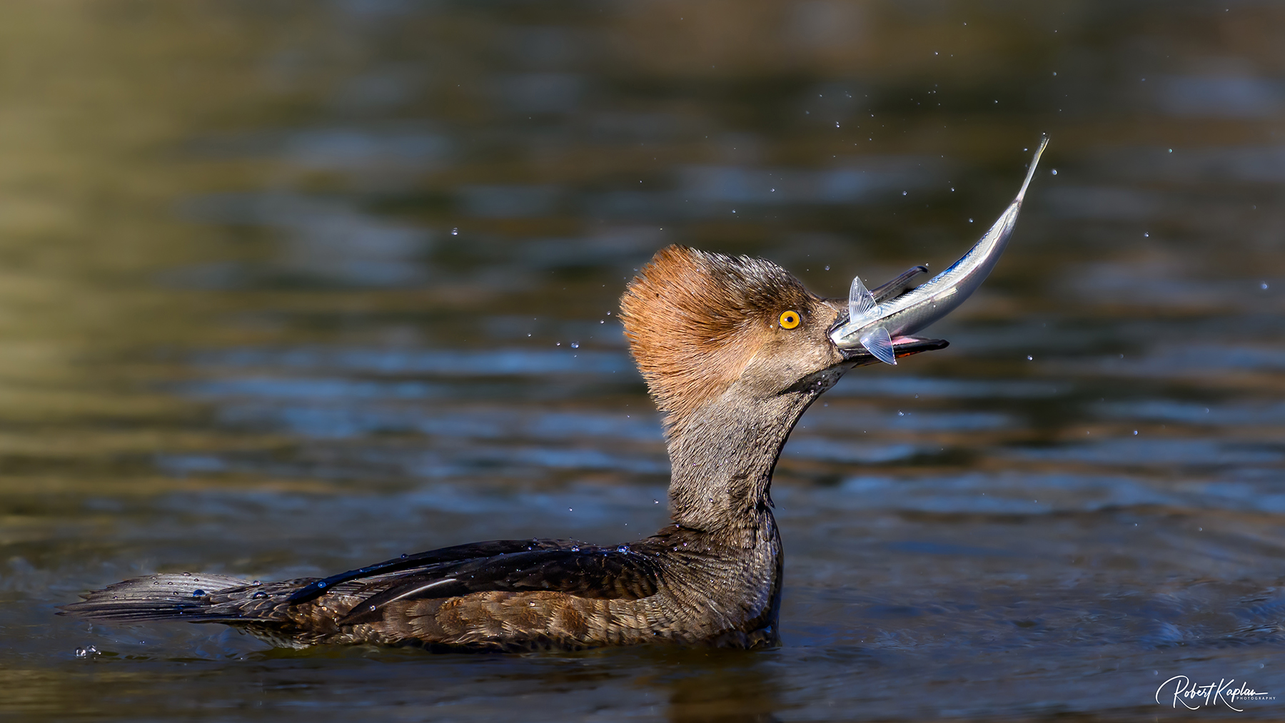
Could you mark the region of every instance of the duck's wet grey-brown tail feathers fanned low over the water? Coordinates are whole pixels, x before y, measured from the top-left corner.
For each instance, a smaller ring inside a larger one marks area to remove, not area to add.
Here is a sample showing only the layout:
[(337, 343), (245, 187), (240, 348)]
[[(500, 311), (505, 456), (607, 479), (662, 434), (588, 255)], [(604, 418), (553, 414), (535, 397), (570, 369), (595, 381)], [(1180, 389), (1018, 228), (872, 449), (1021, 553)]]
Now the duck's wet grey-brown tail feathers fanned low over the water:
[(146, 575), (85, 593), (84, 601), (60, 606), (59, 615), (116, 622), (226, 622), (227, 610), (216, 609), (211, 595), (249, 584), (249, 580), (206, 573)]

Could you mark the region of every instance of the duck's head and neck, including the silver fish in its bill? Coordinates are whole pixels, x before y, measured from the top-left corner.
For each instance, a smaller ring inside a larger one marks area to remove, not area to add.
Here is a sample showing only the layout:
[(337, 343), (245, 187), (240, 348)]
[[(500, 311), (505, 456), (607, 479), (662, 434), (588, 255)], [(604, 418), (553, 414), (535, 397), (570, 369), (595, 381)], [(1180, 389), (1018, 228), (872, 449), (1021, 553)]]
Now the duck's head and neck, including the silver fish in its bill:
[(982, 284), (1029, 182), (973, 249), (920, 286), (921, 266), (874, 290), (855, 279), (848, 299), (830, 299), (770, 261), (660, 249), (626, 289), (621, 321), (664, 417), (678, 524), (711, 529), (762, 507), (790, 429), (846, 371), (944, 348), (911, 334)]

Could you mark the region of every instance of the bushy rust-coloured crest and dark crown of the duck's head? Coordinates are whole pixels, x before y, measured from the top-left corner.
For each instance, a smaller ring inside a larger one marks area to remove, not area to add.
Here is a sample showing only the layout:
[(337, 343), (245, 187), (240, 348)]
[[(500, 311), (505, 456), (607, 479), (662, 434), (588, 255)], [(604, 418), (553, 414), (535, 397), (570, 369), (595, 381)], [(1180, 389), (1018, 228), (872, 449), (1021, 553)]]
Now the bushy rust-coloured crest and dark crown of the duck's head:
[(667, 428), (740, 376), (777, 316), (810, 294), (770, 261), (671, 245), (621, 298), (630, 351)]

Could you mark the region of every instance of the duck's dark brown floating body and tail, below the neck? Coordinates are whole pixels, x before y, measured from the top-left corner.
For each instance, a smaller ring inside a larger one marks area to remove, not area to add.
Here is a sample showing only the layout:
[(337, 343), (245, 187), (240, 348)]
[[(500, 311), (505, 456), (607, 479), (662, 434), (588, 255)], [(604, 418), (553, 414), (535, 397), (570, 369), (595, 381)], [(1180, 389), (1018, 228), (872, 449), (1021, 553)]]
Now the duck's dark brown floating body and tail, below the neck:
[(98, 620), (224, 623), (288, 646), (540, 650), (669, 640), (748, 647), (776, 640), (775, 527), (763, 542), (762, 553), (747, 559), (684, 529), (616, 547), (492, 541), (324, 579), (149, 575), (63, 610)]

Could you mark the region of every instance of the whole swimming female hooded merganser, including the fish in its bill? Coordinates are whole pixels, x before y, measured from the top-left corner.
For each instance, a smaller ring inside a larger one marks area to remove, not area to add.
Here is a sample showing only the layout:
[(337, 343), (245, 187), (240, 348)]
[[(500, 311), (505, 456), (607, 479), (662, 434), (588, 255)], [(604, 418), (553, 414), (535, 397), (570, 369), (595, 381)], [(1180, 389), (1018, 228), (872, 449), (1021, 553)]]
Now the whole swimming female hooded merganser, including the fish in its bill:
[(1038, 158), (987, 235), (911, 290), (923, 267), (873, 292), (855, 279), (844, 304), (808, 293), (768, 261), (681, 247), (657, 253), (621, 299), (672, 465), (673, 524), (646, 539), (610, 547), (478, 542), (272, 583), (149, 575), (87, 593), (63, 611), (108, 622), (224, 623), (293, 647), (772, 645), (783, 557), (768, 488), (790, 429), (847, 370), (946, 347), (910, 334), (959, 306), (989, 274)]

